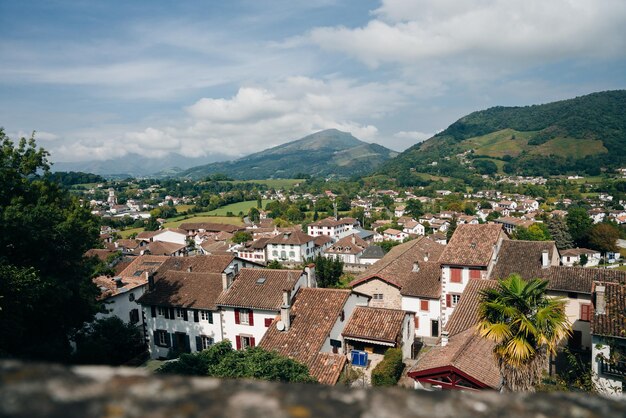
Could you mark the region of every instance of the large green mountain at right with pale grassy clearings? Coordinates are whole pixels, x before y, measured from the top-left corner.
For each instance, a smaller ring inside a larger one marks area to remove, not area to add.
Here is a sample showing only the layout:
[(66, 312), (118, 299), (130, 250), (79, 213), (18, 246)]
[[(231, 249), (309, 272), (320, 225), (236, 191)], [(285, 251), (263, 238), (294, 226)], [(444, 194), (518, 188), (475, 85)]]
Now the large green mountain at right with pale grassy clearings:
[(379, 171), (414, 184), (424, 178), (420, 173), (462, 178), (468, 167), (479, 173), (594, 175), (620, 166), (626, 166), (626, 90), (474, 112)]

